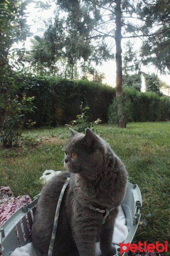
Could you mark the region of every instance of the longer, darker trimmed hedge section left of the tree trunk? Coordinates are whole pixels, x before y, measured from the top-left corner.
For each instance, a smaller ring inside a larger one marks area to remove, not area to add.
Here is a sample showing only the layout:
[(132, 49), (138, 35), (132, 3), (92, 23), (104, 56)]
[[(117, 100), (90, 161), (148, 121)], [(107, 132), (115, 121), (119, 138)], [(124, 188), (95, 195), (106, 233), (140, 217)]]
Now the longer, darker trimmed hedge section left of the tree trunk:
[(36, 126), (69, 124), (80, 113), (79, 106), (88, 106), (91, 120), (107, 122), (108, 107), (115, 96), (115, 88), (94, 81), (59, 79), (44, 76), (24, 76), (20, 93), (35, 96), (37, 111), (29, 116)]

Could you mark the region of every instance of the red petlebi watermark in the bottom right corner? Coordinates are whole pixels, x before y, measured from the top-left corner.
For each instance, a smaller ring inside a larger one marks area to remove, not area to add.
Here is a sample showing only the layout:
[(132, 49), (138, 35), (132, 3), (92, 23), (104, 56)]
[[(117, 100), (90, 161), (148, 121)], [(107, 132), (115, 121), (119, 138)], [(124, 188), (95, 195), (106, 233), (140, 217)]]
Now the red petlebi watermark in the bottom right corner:
[(144, 243), (142, 243), (141, 241), (138, 242), (138, 244), (122, 244), (119, 243), (120, 245), (120, 255), (122, 255), (123, 253), (127, 252), (128, 250), (130, 250), (132, 253), (136, 253), (137, 250), (139, 250), (139, 252), (141, 253), (153, 253), (155, 251), (162, 253), (165, 252), (167, 253), (168, 248), (168, 241), (165, 241), (164, 244), (159, 243), (158, 241), (156, 241), (155, 244), (147, 244), (146, 241), (144, 241)]

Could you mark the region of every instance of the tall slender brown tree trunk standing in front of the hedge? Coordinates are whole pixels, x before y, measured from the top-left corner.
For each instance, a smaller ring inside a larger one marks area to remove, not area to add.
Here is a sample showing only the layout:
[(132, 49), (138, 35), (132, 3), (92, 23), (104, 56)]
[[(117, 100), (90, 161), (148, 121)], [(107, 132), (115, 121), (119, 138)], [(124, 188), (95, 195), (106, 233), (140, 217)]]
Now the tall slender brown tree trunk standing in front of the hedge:
[(118, 127), (126, 128), (125, 115), (122, 101), (122, 12), (121, 0), (116, 0), (116, 99), (118, 107)]

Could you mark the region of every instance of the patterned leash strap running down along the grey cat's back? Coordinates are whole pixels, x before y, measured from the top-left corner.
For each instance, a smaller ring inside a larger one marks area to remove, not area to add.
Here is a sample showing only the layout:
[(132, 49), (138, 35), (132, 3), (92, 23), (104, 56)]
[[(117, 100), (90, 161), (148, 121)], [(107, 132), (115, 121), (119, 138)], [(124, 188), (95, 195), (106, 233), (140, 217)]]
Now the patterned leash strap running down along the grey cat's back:
[(65, 181), (64, 186), (62, 187), (61, 193), (59, 195), (59, 200), (57, 203), (57, 208), (56, 208), (56, 213), (55, 213), (55, 218), (54, 218), (53, 230), (52, 230), (52, 234), (51, 234), (51, 241), (50, 241), (50, 245), (49, 245), (49, 249), (48, 249), (48, 256), (52, 256), (52, 253), (53, 253), (54, 240), (55, 240), (55, 236), (56, 236), (56, 230), (57, 230), (57, 224), (58, 224), (58, 218), (59, 218), (59, 208), (61, 205), (62, 196), (64, 195), (64, 191), (65, 191), (66, 186), (68, 185), (69, 181), (70, 181), (70, 176), (67, 177), (67, 180)]

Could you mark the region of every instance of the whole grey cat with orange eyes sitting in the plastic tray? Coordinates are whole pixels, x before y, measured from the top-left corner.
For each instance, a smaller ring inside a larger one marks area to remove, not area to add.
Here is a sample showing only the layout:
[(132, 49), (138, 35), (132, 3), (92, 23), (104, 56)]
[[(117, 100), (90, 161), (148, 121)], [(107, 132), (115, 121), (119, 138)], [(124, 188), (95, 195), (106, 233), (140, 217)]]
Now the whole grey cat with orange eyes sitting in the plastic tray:
[(85, 135), (71, 130), (64, 165), (67, 171), (51, 178), (41, 192), (32, 227), (37, 255), (48, 255), (57, 201), (70, 175), (59, 210), (53, 256), (95, 256), (97, 236), (102, 256), (113, 256), (113, 227), (127, 184), (125, 166), (88, 128)]

